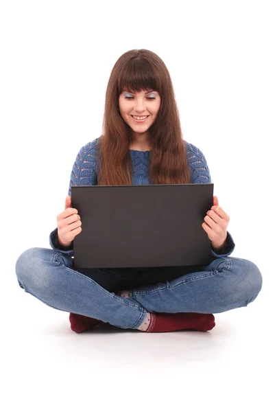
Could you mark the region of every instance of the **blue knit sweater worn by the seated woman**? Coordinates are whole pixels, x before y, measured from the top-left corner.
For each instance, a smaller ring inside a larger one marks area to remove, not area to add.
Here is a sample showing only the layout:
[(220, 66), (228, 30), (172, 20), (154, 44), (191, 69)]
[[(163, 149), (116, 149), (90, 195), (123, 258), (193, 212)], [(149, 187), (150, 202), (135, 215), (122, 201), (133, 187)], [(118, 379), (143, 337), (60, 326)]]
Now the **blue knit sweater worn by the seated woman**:
[[(71, 180), (68, 194), (71, 196), (71, 186), (97, 185), (97, 168), (98, 168), (98, 150), (97, 141), (99, 138), (91, 141), (80, 149), (73, 170), (71, 171)], [(191, 183), (211, 183), (211, 175), (206, 163), (206, 159), (200, 149), (193, 144), (185, 141), (187, 148), (187, 158), (191, 175)], [(150, 150), (141, 152), (139, 150), (130, 150), (132, 185), (149, 185), (148, 169), (150, 165)], [(49, 243), (56, 251), (61, 251), (73, 257), (73, 249), (65, 250), (58, 247), (57, 242), (58, 229), (54, 229), (49, 236)], [(235, 249), (235, 243), (232, 236), (227, 232), (226, 249), (224, 253), (217, 254), (211, 249), (213, 258), (228, 256)]]

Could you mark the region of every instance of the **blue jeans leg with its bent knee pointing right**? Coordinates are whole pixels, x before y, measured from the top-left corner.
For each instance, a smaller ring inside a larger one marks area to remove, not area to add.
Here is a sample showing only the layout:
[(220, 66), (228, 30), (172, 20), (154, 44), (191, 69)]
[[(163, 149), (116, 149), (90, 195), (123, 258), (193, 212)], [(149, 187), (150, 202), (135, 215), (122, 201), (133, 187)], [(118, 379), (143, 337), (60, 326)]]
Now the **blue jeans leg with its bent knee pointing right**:
[(200, 271), (182, 272), (184, 266), (176, 266), (173, 280), (130, 290), (130, 301), (149, 312), (219, 313), (248, 306), (262, 286), (259, 268), (240, 258), (215, 258)]

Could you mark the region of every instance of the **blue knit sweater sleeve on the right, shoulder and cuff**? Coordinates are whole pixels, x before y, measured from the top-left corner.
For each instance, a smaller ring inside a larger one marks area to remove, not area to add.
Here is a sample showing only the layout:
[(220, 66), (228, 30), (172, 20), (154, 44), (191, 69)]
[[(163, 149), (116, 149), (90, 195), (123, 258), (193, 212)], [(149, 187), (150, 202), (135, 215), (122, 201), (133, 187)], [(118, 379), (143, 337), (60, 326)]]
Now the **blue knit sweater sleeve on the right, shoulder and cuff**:
[[(191, 183), (212, 183), (211, 174), (204, 154), (199, 148), (196, 148), (190, 143), (187, 143), (187, 159), (189, 161)], [(230, 255), (234, 249), (235, 242), (230, 233), (227, 232), (226, 245), (222, 253), (216, 253), (211, 247), (211, 256), (213, 258), (222, 258)]]

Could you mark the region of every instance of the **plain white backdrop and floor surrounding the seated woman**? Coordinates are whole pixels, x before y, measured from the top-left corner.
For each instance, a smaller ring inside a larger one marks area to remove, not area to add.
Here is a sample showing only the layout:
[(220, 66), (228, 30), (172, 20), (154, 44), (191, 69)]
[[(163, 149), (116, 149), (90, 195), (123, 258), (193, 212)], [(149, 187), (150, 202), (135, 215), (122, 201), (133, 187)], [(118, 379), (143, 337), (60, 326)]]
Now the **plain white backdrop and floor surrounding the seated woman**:
[[(274, 2), (0, 4), (3, 410), (272, 410)], [(217, 314), (208, 333), (74, 334), (66, 312), (16, 282), (19, 255), (49, 247), (77, 152), (101, 135), (110, 71), (130, 49), (167, 65), (183, 137), (230, 216), (232, 256), (263, 275), (256, 301)]]

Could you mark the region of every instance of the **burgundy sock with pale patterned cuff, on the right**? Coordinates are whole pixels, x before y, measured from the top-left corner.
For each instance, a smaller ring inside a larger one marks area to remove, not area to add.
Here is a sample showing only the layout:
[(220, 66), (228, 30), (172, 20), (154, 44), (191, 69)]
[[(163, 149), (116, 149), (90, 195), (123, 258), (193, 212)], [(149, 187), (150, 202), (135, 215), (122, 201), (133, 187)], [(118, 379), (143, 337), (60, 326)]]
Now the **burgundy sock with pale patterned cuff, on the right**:
[[(206, 332), (215, 326), (215, 317), (207, 313), (150, 313), (138, 329), (144, 332), (173, 332), (175, 330), (199, 330)], [(146, 322), (146, 323), (145, 323)]]

